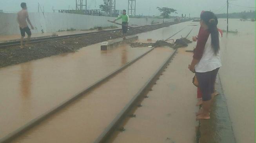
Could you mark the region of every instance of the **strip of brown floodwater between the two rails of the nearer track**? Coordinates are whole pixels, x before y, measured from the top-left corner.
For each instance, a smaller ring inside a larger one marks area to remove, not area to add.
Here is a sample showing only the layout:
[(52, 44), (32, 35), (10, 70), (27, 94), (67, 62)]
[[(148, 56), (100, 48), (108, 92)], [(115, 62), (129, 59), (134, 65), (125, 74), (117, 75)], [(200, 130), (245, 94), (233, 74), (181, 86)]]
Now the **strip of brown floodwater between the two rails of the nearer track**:
[(172, 53), (156, 48), (13, 142), (91, 143)]

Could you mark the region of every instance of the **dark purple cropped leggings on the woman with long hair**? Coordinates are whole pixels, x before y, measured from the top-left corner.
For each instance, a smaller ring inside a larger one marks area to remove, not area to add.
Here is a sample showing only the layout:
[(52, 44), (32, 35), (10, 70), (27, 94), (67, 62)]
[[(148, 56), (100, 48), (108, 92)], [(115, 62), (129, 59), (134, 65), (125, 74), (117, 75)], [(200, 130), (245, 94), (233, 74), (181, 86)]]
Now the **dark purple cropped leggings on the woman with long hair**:
[(217, 77), (217, 73), (220, 68), (215, 70), (198, 73), (196, 72), (196, 77), (198, 80), (198, 87), (200, 88), (203, 96), (203, 101), (211, 100), (211, 94), (214, 93), (214, 84)]

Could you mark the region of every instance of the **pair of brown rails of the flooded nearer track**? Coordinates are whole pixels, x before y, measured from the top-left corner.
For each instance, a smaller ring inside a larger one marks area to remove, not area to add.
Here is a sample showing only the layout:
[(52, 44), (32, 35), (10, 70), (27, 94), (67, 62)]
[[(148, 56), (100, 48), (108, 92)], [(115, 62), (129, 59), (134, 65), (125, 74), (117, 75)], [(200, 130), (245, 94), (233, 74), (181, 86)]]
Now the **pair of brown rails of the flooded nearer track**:
[[(173, 36), (175, 36), (179, 32), (176, 32), (170, 38), (172, 38)], [(116, 75), (118, 75), (119, 73), (124, 71), (129, 66), (131, 66), (134, 63), (140, 61), (140, 59), (145, 57), (145, 55), (151, 53), (154, 49), (155, 49), (154, 47), (151, 48), (151, 50), (149, 50), (148, 52), (138, 56), (134, 60), (130, 61), (129, 63), (125, 64), (124, 66), (120, 67), (119, 69), (113, 71), (112, 73), (110, 73), (109, 75), (103, 77), (102, 79), (98, 80), (97, 82), (95, 82), (91, 86), (89, 86), (89, 87), (85, 88), (84, 90), (78, 92), (77, 94), (73, 95), (68, 100), (65, 100), (61, 104), (56, 105), (51, 110), (47, 111), (46, 113), (41, 114), (37, 118), (34, 118), (33, 120), (31, 120), (30, 122), (26, 123), (22, 127), (18, 128), (15, 131), (13, 131), (10, 134), (8, 134), (4, 138), (1, 138), (0, 139), (0, 143), (7, 143), (7, 142), (10, 142), (10, 141), (13, 141), (14, 139), (16, 139), (19, 136), (23, 135), (25, 132), (27, 132), (31, 128), (33, 128), (33, 127), (37, 126), (38, 124), (42, 123), (43, 121), (47, 120), (53, 114), (58, 113), (60, 110), (62, 110), (65, 107), (67, 107), (67, 105), (70, 105), (74, 101), (78, 100), (80, 97), (86, 96), (88, 93), (90, 93), (91, 91), (95, 90), (99, 86), (102, 86), (102, 84), (105, 84), (105, 82), (107, 82), (109, 79), (115, 77)], [(109, 139), (109, 136), (111, 136), (111, 134), (116, 129), (119, 128), (118, 126), (120, 125), (120, 123), (123, 122), (123, 119), (128, 116), (127, 114), (129, 114), (130, 111), (134, 109), (134, 107), (137, 107), (138, 105), (140, 105), (140, 102), (143, 100), (145, 94), (151, 89), (151, 87), (154, 85), (154, 83), (156, 82), (158, 77), (162, 74), (164, 69), (167, 68), (167, 65), (171, 62), (171, 59), (174, 57), (176, 51), (177, 51), (177, 49), (174, 50), (168, 56), (168, 58), (163, 61), (161, 66), (156, 70), (156, 72), (153, 75), (151, 75), (151, 77), (149, 77), (147, 82), (145, 82), (145, 84), (142, 86), (142, 88), (140, 88), (140, 90), (136, 93), (136, 95), (134, 95), (133, 98), (128, 102), (128, 104), (126, 104), (125, 107), (123, 107), (122, 111), (120, 113), (118, 113), (118, 115), (107, 126), (107, 128), (105, 130), (103, 130), (103, 132), (100, 134), (100, 136), (98, 136), (95, 139), (94, 143), (103, 143), (103, 142), (107, 141)]]

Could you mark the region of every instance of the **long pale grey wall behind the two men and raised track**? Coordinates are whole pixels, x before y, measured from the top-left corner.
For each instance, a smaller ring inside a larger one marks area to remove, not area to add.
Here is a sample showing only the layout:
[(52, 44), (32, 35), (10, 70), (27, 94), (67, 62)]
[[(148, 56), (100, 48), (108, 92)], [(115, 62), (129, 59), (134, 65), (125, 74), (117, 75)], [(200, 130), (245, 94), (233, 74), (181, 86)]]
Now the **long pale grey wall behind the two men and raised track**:
[[(11, 35), (20, 33), (16, 17), (17, 14), (15, 13), (0, 13), (0, 34)], [(33, 33), (41, 32), (41, 29), (44, 29), (44, 32), (56, 32), (58, 30), (66, 30), (70, 28), (80, 30), (90, 29), (94, 26), (105, 27), (113, 25), (113, 23), (110, 23), (107, 20), (114, 20), (113, 17), (68, 13), (29, 13), (29, 18), (36, 28), (35, 30), (32, 30)], [(152, 21), (162, 23), (163, 19), (130, 18), (129, 25), (151, 25)], [(174, 19), (165, 19), (165, 21), (172, 22)], [(118, 27), (120, 27), (120, 25), (118, 25)]]

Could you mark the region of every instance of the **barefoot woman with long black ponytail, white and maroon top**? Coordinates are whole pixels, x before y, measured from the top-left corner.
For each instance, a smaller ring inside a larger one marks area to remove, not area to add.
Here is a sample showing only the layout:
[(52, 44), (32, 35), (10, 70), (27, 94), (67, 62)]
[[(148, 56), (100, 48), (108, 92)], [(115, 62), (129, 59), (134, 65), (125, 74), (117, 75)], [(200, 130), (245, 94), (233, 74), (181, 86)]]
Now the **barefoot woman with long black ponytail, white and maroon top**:
[(214, 83), (221, 66), (220, 38), (217, 28), (216, 16), (210, 11), (205, 11), (200, 16), (200, 25), (203, 29), (199, 32), (193, 60), (189, 70), (196, 73), (198, 86), (202, 92), (203, 106), (197, 113), (196, 120), (210, 119), (211, 99), (214, 93)]

